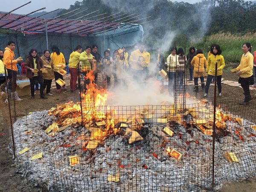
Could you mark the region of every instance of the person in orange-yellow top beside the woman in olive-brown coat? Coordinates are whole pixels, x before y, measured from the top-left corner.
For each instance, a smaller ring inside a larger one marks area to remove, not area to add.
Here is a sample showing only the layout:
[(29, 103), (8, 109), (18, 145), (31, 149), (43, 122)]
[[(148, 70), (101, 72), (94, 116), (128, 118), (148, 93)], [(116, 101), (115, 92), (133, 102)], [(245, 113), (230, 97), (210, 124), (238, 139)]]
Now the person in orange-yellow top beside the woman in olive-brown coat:
[[(52, 63), (54, 65), (66, 64), (63, 53), (60, 52), (60, 49), (56, 45), (52, 46), (52, 53), (51, 53), (50, 57), (52, 58)], [(54, 71), (54, 76), (55, 76), (55, 81), (57, 79), (64, 80), (63, 76), (61, 74), (59, 74), (58, 72), (56, 72), (56, 71)], [(66, 89), (66, 86), (64, 85), (64, 86), (61, 87), (58, 83), (56, 83), (56, 89), (57, 89), (57, 93), (61, 93), (61, 89)]]

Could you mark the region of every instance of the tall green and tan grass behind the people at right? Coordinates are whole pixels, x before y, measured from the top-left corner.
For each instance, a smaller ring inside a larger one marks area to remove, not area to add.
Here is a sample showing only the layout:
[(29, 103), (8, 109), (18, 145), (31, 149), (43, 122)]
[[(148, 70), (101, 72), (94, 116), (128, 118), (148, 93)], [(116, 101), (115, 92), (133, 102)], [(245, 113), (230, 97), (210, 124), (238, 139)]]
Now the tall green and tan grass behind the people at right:
[(203, 49), (207, 56), (210, 46), (218, 44), (221, 47), (221, 55), (224, 56), (226, 63), (239, 63), (241, 59), (242, 44), (249, 42), (256, 50), (256, 33), (247, 32), (245, 34), (231, 34), (230, 32), (218, 32), (213, 35), (205, 36), (203, 41), (194, 45), (197, 49)]

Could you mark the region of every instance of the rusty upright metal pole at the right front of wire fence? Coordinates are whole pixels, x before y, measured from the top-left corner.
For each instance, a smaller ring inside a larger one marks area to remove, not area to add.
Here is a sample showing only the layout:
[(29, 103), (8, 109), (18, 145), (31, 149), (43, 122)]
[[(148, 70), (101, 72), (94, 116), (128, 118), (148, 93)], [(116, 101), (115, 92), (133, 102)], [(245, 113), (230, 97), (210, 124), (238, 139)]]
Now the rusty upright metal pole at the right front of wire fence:
[(214, 103), (213, 103), (213, 133), (212, 133), (212, 189), (214, 188), (214, 166), (215, 166), (215, 133), (216, 133), (216, 92), (217, 92), (217, 69), (218, 62), (215, 63), (215, 83), (214, 83)]

